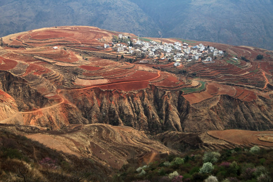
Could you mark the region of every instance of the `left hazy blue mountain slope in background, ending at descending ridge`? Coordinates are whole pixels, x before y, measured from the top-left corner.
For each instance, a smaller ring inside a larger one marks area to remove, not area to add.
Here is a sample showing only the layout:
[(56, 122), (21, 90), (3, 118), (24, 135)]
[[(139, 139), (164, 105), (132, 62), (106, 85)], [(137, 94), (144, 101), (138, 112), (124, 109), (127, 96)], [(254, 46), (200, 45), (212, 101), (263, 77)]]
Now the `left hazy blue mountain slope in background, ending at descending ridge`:
[[(157, 25), (126, 1), (12, 1), (0, 4), (1, 34), (62, 25), (92, 25), (109, 30), (151, 35)], [(14, 11), (16, 10), (16, 11)]]

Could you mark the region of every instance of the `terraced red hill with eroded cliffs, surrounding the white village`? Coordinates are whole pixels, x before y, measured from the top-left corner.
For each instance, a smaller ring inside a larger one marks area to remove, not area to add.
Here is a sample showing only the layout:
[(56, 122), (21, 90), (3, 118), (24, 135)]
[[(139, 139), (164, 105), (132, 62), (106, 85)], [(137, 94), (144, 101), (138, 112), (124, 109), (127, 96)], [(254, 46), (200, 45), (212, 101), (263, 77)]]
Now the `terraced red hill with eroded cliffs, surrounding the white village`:
[[(3, 37), (0, 88), (13, 104), (2, 110), (0, 122), (48, 129), (106, 123), (153, 134), (272, 127), (269, 52), (211, 43), (230, 56), (180, 67), (136, 64), (117, 61), (114, 47), (103, 49), (117, 35), (97, 27), (65, 26)], [(264, 59), (255, 60), (257, 54)], [(234, 55), (250, 62), (233, 63)], [(186, 76), (180, 74), (183, 70)]]

